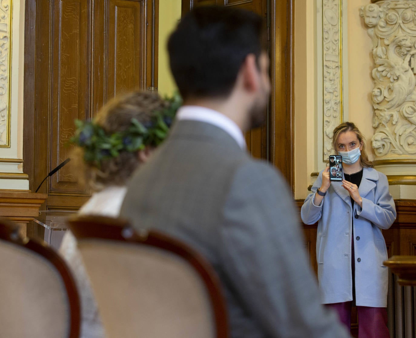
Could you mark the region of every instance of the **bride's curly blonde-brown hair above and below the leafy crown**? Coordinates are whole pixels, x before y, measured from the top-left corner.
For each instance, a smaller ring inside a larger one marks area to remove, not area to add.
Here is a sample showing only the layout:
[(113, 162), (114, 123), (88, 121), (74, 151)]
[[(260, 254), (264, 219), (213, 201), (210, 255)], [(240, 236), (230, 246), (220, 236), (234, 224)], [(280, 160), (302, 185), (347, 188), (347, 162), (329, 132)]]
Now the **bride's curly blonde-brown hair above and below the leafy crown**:
[[(94, 123), (108, 135), (127, 131), (132, 119), (143, 125), (151, 123), (154, 111), (165, 109), (169, 103), (158, 94), (134, 91), (116, 96), (97, 113)], [(84, 150), (77, 147), (74, 159), (84, 168), (85, 182), (93, 191), (109, 185), (125, 185), (133, 171), (141, 164), (137, 151), (121, 150), (115, 157), (103, 158), (99, 165), (84, 160)]]

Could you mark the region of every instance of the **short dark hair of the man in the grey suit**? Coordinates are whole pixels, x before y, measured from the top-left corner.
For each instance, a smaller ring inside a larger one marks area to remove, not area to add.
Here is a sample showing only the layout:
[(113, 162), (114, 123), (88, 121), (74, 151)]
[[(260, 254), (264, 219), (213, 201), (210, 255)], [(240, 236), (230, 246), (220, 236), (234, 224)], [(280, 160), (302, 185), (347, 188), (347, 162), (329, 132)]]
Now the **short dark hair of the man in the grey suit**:
[(265, 50), (262, 17), (237, 8), (197, 7), (168, 41), (173, 77), (183, 99), (228, 96), (248, 54)]

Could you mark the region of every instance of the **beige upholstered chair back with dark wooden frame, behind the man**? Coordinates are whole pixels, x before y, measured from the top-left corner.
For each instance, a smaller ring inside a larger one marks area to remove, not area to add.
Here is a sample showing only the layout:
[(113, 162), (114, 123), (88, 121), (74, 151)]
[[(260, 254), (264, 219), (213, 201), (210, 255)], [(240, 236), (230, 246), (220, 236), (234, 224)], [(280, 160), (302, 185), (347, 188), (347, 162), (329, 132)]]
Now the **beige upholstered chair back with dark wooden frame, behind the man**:
[(108, 338), (228, 337), (219, 280), (194, 249), (122, 219), (79, 216), (69, 227)]

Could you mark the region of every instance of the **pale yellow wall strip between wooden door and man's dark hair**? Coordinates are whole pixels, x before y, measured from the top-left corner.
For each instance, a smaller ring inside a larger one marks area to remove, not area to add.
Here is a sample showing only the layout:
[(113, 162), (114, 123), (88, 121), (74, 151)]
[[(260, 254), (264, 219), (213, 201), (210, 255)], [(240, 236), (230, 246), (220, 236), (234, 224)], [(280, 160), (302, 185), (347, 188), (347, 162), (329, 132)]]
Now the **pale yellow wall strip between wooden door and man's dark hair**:
[(169, 69), (166, 43), (181, 18), (181, 0), (159, 0), (159, 76), (158, 92), (161, 96), (171, 95), (176, 89)]

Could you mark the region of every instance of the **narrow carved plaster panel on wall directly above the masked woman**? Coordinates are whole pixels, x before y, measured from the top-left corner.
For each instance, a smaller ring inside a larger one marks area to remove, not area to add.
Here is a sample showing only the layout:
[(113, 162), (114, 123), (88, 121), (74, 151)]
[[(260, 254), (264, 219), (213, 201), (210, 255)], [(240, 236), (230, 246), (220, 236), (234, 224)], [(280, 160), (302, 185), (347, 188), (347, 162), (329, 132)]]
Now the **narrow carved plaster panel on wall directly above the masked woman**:
[(332, 153), (334, 128), (342, 121), (341, 0), (322, 1), (323, 160)]

